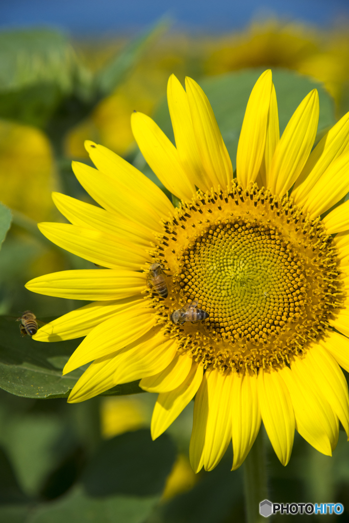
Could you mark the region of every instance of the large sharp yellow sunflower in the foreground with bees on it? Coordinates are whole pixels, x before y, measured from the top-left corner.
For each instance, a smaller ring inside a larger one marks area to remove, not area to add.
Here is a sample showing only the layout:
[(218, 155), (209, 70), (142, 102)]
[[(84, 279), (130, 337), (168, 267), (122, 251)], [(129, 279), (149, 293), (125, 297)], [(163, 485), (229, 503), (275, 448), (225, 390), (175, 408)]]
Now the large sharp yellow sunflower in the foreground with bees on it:
[[(155, 439), (195, 396), (190, 460), (212, 470), (230, 440), (232, 469), (261, 420), (286, 465), (295, 428), (331, 455), (349, 434), (349, 118), (311, 152), (317, 90), (282, 137), (271, 71), (251, 92), (236, 176), (212, 108), (187, 78), (168, 83), (176, 147), (132, 115), (147, 163), (179, 200), (101, 145), (94, 169), (73, 162), (101, 207), (53, 194), (71, 222), (39, 224), (69, 252), (103, 267), (35, 278), (27, 288), (92, 303), (42, 327), (42, 342), (86, 336), (64, 373), (92, 361), (68, 401), (141, 380), (157, 392)], [(325, 214), (326, 211), (332, 209)], [(323, 218), (321, 218), (321, 216)]]

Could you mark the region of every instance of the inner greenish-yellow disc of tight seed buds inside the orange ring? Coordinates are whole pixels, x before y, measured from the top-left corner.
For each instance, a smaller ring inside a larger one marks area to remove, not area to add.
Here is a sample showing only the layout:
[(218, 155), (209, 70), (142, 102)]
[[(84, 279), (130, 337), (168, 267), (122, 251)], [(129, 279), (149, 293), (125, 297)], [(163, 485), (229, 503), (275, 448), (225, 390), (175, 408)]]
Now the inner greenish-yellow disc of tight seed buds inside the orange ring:
[(275, 226), (240, 219), (207, 228), (184, 252), (180, 277), (217, 333), (258, 341), (304, 307), (300, 265)]

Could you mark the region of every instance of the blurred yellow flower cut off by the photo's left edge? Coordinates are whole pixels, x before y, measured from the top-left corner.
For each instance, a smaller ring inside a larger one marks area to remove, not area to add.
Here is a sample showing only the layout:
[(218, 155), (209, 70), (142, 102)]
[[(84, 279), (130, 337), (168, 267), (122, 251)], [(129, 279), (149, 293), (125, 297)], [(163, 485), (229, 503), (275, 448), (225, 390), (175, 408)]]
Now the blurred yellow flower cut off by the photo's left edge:
[(54, 217), (53, 160), (42, 131), (0, 120), (0, 186), (0, 201), (11, 209), (36, 221)]

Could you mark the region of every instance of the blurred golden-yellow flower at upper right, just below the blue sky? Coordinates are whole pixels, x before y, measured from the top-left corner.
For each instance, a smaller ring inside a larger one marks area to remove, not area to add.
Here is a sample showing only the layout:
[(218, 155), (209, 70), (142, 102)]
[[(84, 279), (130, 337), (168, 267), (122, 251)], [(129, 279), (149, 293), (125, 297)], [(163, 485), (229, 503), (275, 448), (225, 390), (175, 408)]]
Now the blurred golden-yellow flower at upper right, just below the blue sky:
[(286, 67), (324, 83), (333, 96), (338, 116), (349, 83), (349, 38), (342, 33), (321, 35), (301, 25), (276, 20), (252, 24), (242, 33), (216, 42), (205, 63), (206, 74), (220, 74), (246, 67)]

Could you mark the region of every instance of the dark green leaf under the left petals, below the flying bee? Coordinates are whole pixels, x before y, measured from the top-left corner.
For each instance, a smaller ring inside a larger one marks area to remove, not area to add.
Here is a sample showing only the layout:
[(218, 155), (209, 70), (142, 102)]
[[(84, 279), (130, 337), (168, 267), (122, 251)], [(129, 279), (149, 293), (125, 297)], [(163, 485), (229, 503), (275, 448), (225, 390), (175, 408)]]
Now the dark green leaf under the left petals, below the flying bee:
[[(42, 343), (21, 337), (15, 317), (0, 316), (0, 388), (33, 398), (67, 397), (84, 369), (62, 376), (62, 369), (81, 342)], [(115, 386), (106, 395), (144, 392), (138, 381)]]

